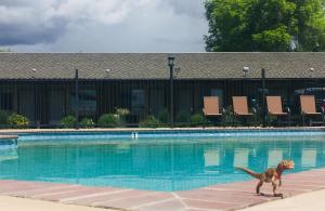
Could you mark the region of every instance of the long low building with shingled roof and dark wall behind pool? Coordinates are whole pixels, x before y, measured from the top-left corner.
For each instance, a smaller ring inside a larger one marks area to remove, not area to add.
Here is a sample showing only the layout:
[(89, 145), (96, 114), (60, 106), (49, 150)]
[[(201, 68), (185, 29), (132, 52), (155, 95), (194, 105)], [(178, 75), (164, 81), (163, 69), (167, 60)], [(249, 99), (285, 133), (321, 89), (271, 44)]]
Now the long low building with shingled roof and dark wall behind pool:
[[(220, 96), (223, 107), (233, 95), (261, 101), (261, 68), (268, 94), (281, 95), (292, 107), (295, 93), (325, 87), (325, 53), (173, 56), (176, 121), (200, 113), (206, 95)], [(138, 123), (170, 109), (169, 70), (167, 53), (0, 53), (0, 109), (53, 126), (76, 109), (80, 118), (98, 119), (121, 107), (131, 111), (128, 122)]]

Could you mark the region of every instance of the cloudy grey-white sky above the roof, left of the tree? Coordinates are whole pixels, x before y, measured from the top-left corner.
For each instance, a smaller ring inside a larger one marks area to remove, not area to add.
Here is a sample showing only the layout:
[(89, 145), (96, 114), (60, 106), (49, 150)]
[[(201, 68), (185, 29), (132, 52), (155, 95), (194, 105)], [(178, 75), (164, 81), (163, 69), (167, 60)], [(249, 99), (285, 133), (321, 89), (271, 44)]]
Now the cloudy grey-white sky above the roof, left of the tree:
[(0, 0), (15, 52), (202, 52), (204, 0)]

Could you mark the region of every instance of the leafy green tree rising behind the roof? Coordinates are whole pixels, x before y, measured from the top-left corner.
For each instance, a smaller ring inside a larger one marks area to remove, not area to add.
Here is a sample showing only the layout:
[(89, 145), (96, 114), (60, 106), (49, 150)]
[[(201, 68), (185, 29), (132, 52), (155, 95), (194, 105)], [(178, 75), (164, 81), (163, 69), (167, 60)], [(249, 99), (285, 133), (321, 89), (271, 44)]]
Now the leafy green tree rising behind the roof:
[(206, 0), (207, 51), (324, 51), (325, 0)]

